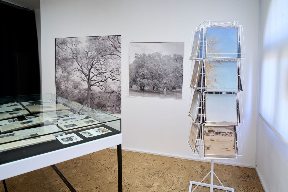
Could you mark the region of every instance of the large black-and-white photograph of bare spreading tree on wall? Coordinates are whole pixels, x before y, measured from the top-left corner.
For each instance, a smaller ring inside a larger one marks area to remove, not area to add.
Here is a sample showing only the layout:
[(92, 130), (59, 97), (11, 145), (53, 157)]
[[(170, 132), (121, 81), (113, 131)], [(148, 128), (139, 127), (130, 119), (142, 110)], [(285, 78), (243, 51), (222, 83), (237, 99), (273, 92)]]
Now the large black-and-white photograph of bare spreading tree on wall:
[(56, 94), (121, 113), (121, 36), (55, 39)]

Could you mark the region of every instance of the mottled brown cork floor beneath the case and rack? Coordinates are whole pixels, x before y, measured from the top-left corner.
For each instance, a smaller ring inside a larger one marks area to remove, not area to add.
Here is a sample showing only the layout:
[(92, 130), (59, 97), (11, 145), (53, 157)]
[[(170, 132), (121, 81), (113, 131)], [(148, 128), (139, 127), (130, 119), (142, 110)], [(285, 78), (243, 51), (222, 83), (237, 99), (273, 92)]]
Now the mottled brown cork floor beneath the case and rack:
[[(84, 155), (56, 166), (77, 192), (118, 191), (115, 149)], [(201, 161), (122, 151), (123, 191), (188, 192), (190, 180), (200, 182), (210, 168), (210, 163)], [(255, 169), (214, 164), (214, 171), (223, 185), (234, 188), (235, 192), (264, 192)], [(69, 192), (51, 166), (6, 179), (5, 182), (9, 192)], [(210, 175), (204, 183), (210, 183)], [(215, 176), (214, 184), (220, 185)], [(199, 186), (195, 189), (195, 192), (206, 191), (209, 192), (210, 188)], [(0, 192), (4, 192), (2, 182)]]

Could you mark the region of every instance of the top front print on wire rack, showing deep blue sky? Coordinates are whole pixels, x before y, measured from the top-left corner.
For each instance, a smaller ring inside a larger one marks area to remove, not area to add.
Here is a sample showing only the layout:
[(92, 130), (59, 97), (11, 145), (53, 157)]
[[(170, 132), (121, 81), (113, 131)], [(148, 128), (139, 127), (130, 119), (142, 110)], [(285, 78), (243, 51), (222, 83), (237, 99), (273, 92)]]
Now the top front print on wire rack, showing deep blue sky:
[(238, 27), (206, 28), (206, 58), (238, 58)]

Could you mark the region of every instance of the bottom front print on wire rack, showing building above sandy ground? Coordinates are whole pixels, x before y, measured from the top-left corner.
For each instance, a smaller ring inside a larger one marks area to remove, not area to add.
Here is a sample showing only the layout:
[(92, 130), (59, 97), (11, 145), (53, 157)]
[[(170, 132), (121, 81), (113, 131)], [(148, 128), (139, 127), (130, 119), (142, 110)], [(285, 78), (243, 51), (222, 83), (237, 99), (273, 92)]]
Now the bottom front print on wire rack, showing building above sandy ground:
[(204, 157), (235, 158), (234, 135), (234, 126), (204, 126)]

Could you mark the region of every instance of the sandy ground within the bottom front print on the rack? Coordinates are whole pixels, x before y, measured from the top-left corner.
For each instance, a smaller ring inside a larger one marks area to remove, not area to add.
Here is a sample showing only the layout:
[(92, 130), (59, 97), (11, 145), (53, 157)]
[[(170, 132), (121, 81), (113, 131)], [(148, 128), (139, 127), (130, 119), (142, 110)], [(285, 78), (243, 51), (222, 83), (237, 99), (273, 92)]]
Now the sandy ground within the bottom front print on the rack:
[[(233, 136), (226, 137), (226, 136), (221, 136), (221, 135), (214, 135), (214, 136), (205, 135), (204, 146), (205, 146), (204, 147), (205, 154), (232, 155), (233, 157), (235, 157)], [(205, 155), (205, 157), (209, 157), (209, 156)], [(223, 156), (223, 157), (227, 157), (227, 156)]]

